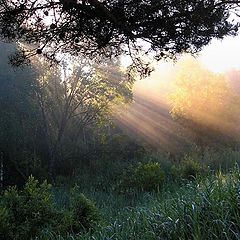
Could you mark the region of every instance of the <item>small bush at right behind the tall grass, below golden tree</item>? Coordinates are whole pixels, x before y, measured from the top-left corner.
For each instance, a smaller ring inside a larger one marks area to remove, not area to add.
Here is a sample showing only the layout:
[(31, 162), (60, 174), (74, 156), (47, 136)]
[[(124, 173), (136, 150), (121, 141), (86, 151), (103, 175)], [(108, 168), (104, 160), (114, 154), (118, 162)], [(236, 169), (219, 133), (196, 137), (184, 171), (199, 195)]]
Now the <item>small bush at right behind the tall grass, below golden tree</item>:
[(194, 180), (197, 176), (205, 175), (207, 168), (191, 157), (185, 157), (179, 165), (173, 165), (172, 175), (174, 179)]

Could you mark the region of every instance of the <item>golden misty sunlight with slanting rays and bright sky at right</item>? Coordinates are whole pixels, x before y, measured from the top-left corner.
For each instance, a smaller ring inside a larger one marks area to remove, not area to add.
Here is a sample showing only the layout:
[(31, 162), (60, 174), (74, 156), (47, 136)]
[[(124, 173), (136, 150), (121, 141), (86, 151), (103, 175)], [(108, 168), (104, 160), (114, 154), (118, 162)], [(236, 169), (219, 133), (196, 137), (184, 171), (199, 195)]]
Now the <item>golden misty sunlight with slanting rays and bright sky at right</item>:
[(183, 131), (201, 141), (211, 141), (211, 134), (236, 139), (239, 49), (239, 37), (227, 38), (212, 42), (197, 59), (156, 65), (150, 78), (135, 84), (134, 102), (117, 116), (119, 126), (169, 152), (184, 146)]

